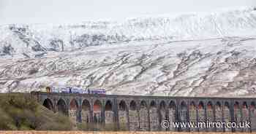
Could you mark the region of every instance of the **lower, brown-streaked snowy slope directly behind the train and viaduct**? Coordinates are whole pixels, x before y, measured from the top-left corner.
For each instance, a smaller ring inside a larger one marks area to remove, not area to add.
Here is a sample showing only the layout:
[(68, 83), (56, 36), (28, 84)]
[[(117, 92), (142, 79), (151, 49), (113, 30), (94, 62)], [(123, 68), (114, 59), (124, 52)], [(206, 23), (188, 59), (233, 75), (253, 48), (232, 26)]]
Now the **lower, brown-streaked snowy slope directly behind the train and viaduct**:
[(45, 58), (2, 58), (1, 92), (68, 85), (125, 95), (255, 95), (255, 44), (256, 38), (238, 37), (130, 42)]

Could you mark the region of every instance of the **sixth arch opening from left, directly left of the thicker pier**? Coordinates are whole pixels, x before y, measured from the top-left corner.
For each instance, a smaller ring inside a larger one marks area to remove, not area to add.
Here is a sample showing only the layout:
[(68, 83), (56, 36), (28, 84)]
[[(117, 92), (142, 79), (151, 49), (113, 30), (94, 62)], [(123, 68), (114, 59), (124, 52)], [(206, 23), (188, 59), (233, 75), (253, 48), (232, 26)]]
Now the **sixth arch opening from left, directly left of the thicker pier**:
[(105, 104), (105, 125), (113, 125), (114, 122), (114, 111), (113, 111), (113, 104), (111, 101), (107, 101)]

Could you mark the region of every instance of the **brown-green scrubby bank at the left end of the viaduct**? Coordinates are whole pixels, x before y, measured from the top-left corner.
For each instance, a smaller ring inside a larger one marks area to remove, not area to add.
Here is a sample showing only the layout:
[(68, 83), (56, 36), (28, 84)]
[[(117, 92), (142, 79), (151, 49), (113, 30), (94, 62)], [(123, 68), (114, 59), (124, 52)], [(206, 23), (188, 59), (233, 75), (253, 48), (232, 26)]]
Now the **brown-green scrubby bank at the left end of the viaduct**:
[(68, 117), (55, 114), (29, 94), (0, 94), (0, 130), (72, 130)]

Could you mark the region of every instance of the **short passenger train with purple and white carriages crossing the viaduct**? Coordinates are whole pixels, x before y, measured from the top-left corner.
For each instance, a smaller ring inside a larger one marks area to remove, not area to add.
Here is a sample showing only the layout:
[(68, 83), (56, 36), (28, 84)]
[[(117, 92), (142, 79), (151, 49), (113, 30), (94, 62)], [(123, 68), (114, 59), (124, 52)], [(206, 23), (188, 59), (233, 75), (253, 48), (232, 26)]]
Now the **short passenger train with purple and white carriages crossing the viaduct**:
[(78, 94), (99, 94), (106, 95), (105, 89), (83, 89), (80, 87), (46, 87), (46, 92), (63, 92), (63, 93), (78, 93)]

